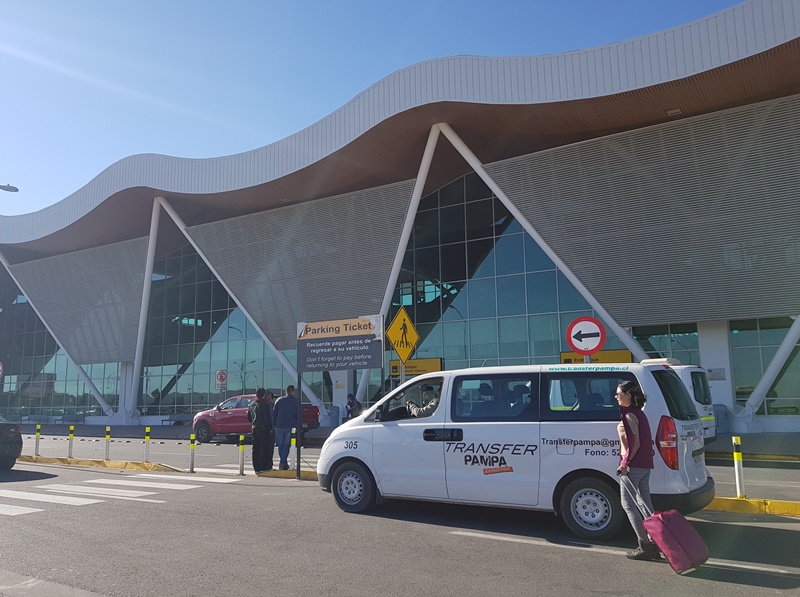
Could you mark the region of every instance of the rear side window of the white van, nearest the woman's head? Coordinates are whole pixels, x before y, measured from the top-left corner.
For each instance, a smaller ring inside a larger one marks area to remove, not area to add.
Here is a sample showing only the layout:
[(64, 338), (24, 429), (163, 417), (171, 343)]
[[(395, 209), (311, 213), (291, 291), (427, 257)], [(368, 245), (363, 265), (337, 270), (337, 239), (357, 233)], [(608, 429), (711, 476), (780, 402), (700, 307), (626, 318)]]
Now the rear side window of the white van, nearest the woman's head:
[(617, 421), (614, 394), (632, 373), (580, 371), (542, 373), (542, 421)]

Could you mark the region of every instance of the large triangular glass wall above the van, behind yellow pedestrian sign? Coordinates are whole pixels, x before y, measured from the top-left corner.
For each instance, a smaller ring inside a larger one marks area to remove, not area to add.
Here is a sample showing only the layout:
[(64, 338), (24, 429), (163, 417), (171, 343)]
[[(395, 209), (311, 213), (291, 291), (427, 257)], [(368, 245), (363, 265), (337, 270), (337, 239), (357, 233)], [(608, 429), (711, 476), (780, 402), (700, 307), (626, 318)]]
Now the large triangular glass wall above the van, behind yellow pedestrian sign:
[[(597, 316), (475, 173), (420, 201), (387, 326), (400, 306), (420, 335), (411, 358), (446, 369), (558, 363), (570, 322)], [(370, 399), (397, 381), (373, 375)]]

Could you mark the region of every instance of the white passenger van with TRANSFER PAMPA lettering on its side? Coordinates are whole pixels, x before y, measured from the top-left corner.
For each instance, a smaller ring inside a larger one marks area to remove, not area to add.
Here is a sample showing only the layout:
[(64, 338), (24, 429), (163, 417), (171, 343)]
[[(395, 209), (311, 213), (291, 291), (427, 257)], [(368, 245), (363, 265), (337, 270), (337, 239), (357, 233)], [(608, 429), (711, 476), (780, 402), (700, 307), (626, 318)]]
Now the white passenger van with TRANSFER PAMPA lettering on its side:
[[(553, 511), (576, 535), (615, 535), (626, 516), (615, 476), (623, 381), (639, 383), (655, 435), (657, 509), (684, 513), (714, 498), (700, 419), (662, 364), (487, 367), (427, 373), (333, 431), (317, 475), (347, 512), (384, 498)], [(436, 397), (432, 414), (409, 403)], [(413, 410), (413, 409), (412, 409)]]

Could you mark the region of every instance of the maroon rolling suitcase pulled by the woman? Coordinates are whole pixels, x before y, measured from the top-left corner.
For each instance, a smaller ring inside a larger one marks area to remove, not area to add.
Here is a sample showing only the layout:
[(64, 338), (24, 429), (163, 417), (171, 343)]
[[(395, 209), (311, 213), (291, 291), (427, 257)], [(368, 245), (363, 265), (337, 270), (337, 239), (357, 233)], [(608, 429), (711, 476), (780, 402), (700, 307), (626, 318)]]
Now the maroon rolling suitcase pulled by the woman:
[(686, 572), (708, 560), (708, 547), (705, 541), (683, 514), (677, 510), (648, 512), (647, 507), (636, 499), (638, 492), (630, 479), (622, 476), (620, 483), (638, 505), (644, 517), (645, 530), (675, 572), (679, 574)]

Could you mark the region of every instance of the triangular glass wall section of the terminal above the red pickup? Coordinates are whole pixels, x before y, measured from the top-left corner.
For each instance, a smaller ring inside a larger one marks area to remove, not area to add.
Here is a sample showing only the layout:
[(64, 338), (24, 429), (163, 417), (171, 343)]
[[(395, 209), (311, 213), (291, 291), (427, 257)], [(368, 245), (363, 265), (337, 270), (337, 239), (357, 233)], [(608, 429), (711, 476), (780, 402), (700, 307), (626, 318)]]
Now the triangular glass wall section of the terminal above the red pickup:
[[(295, 363), (295, 351), (284, 354)], [(143, 415), (196, 413), (262, 386), (280, 395), (297, 382), (188, 244), (154, 263), (142, 369)], [(227, 387), (217, 387), (217, 371)], [(303, 381), (331, 402), (329, 376)]]

